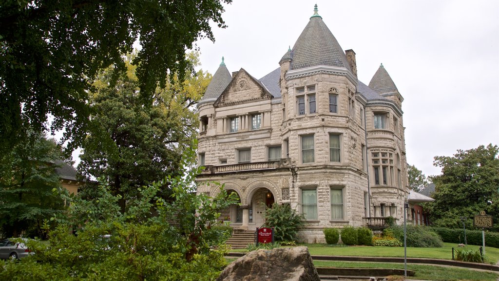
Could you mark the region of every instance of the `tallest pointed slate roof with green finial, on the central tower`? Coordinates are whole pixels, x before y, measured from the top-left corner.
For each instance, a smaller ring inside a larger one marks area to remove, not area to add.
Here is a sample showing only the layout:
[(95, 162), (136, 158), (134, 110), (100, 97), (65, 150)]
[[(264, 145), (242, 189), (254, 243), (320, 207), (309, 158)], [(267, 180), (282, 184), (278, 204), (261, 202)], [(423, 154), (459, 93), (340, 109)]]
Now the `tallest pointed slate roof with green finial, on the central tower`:
[(345, 67), (351, 71), (345, 52), (317, 13), (310, 17), (291, 54), (293, 60), (290, 70), (329, 65)]

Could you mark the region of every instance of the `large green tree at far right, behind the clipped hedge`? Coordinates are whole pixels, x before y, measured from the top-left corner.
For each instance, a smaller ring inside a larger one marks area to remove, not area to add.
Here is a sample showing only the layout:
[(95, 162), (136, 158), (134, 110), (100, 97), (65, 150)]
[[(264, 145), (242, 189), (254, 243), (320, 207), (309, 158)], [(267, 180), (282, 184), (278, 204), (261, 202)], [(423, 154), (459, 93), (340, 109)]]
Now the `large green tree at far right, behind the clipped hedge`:
[(435, 157), (433, 164), (442, 167), (442, 174), (432, 176), (435, 201), (425, 205), (435, 225), (461, 227), (460, 216), (464, 216), (471, 228), (473, 216), (482, 210), (498, 219), (498, 153), (498, 146), (489, 144), (459, 149), (453, 157)]

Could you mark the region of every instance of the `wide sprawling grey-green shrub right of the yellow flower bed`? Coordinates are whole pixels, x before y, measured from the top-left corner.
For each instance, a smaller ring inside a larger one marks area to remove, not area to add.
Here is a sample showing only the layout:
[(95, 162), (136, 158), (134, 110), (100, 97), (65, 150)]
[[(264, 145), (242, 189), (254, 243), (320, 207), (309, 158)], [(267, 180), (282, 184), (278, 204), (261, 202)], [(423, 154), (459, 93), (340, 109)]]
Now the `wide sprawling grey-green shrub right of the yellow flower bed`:
[[(392, 236), (397, 238), (404, 244), (404, 226), (394, 225), (385, 229), (392, 233)], [(385, 231), (384, 231), (385, 232)], [(406, 226), (406, 242), (408, 247), (442, 247), (442, 239), (440, 236), (431, 230), (430, 227), (422, 225), (408, 224)]]

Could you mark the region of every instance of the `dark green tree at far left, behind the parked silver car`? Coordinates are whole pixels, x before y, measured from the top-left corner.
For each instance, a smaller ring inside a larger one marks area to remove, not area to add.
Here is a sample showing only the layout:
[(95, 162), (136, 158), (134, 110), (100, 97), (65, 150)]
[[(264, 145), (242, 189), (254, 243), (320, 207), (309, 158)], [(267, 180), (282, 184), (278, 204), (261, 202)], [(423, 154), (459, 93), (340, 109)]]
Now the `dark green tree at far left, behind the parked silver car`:
[(34, 142), (18, 143), (0, 157), (0, 232), (6, 236), (39, 235), (43, 219), (64, 206), (52, 191), (61, 186), (54, 165), (61, 148), (42, 133), (29, 133)]

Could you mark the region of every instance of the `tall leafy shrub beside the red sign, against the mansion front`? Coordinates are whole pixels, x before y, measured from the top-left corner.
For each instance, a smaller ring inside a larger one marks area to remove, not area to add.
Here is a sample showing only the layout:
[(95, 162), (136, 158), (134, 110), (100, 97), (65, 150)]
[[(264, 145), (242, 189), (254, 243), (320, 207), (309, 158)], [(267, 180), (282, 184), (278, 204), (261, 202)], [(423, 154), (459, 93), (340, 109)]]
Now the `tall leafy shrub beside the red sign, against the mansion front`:
[(303, 214), (292, 209), (289, 204), (272, 204), (265, 208), (265, 226), (274, 227), (276, 241), (294, 241), (298, 229), (305, 223)]

